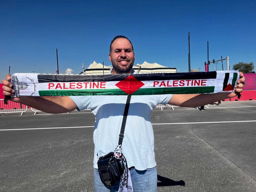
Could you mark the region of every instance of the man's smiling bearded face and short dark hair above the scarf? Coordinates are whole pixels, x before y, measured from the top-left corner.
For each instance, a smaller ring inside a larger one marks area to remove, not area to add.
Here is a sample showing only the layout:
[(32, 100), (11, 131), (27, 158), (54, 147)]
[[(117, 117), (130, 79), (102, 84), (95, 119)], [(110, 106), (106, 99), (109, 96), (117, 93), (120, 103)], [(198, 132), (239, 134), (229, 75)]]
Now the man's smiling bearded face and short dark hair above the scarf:
[(111, 52), (108, 56), (113, 66), (112, 74), (132, 73), (135, 56), (128, 39), (116, 39), (111, 45)]

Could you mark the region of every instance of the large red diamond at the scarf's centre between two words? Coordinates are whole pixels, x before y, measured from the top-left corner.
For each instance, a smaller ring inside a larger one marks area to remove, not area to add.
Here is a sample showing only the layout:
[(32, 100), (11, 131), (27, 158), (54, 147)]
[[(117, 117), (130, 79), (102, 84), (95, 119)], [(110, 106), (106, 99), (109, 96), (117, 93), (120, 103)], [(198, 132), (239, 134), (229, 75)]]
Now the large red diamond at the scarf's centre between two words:
[(141, 81), (139, 81), (138, 79), (136, 79), (131, 75), (125, 78), (124, 80), (119, 81), (116, 84), (116, 86), (119, 89), (126, 92), (128, 95), (131, 95), (132, 93), (140, 89), (140, 87), (142, 87), (143, 85), (144, 83), (142, 83)]

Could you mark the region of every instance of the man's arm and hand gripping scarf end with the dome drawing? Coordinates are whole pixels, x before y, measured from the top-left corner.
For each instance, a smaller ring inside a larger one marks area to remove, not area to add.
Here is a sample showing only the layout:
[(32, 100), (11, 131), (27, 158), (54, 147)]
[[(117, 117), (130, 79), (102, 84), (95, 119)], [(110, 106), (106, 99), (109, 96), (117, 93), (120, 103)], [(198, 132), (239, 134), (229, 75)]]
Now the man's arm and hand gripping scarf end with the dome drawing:
[[(2, 80), (4, 84), (3, 94), (5, 96), (12, 96), (14, 90), (11, 88), (12, 84), (9, 82), (11, 75), (7, 75), (6, 79)], [(69, 97), (30, 97), (30, 96), (20, 96), (13, 97), (10, 99), (13, 102), (22, 103), (29, 107), (36, 108), (40, 111), (46, 113), (66, 113), (77, 109), (76, 104)]]

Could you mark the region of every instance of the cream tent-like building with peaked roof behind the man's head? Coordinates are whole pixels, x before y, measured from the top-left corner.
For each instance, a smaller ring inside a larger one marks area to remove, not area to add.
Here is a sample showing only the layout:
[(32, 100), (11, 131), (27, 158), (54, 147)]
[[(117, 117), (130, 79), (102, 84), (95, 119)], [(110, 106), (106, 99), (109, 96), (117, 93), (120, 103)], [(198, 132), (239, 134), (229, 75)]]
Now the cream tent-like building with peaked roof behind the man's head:
[[(104, 70), (103, 70), (104, 68)], [(89, 65), (87, 69), (84, 70), (85, 75), (102, 75), (102, 74), (108, 74), (109, 70), (112, 68), (112, 66), (103, 66), (101, 63), (97, 63), (96, 61), (93, 61)], [(142, 64), (137, 64), (136, 66), (132, 67), (133, 70), (135, 70), (137, 73), (176, 73), (176, 68), (170, 68), (165, 67), (163, 65), (159, 65), (158, 63), (148, 63), (147, 61), (144, 61)], [(80, 74), (83, 74), (81, 72)]]

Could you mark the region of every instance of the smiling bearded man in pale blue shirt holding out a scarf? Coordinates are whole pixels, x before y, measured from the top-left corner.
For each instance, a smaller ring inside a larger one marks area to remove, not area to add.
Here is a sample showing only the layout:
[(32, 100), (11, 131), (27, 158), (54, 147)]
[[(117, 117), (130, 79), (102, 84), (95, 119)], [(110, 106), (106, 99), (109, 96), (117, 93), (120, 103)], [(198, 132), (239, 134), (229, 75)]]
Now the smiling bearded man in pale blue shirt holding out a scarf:
[[(113, 69), (111, 74), (131, 74), (135, 55), (131, 41), (125, 36), (116, 36), (110, 44), (109, 60)], [(242, 92), (244, 75), (240, 73), (236, 92)], [(14, 90), (8, 82), (10, 75), (2, 80), (4, 95), (10, 96)], [(127, 116), (123, 154), (131, 172), (135, 192), (157, 191), (157, 172), (154, 155), (154, 136), (150, 122), (150, 113), (156, 105), (171, 104), (181, 107), (196, 107), (218, 100), (235, 97), (236, 93), (184, 94), (184, 95), (132, 95)], [(91, 108), (96, 116), (93, 133), (94, 149), (94, 186), (95, 191), (110, 191), (100, 181), (98, 157), (113, 151), (118, 144), (118, 135), (122, 124), (127, 96), (70, 96), (70, 97), (16, 97), (10, 100), (23, 103), (47, 113), (64, 113), (74, 109)], [(119, 183), (111, 188), (118, 191)]]

